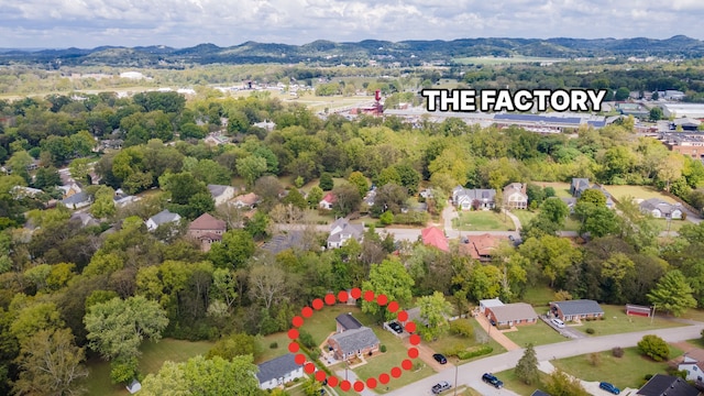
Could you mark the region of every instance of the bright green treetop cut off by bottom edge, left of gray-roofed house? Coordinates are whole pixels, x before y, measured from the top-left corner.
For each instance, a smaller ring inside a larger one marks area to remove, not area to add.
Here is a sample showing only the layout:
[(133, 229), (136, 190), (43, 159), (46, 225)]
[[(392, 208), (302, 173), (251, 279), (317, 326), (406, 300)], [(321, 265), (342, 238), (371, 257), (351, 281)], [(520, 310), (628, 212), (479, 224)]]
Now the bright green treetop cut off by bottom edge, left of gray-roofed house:
[(158, 373), (144, 378), (140, 394), (257, 396), (261, 389), (254, 375), (256, 372), (251, 355), (235, 356), (230, 361), (220, 356), (205, 359), (202, 355), (183, 363), (166, 361)]

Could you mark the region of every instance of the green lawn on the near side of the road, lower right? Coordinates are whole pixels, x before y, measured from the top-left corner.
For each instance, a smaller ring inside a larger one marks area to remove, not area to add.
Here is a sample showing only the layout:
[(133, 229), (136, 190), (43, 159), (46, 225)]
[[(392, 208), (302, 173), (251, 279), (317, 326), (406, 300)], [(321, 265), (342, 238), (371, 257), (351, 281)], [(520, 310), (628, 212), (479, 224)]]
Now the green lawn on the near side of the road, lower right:
[[(670, 346), (670, 358), (682, 354), (682, 351)], [(667, 362), (654, 362), (638, 353), (637, 348), (626, 348), (623, 358), (614, 358), (612, 351), (600, 353), (600, 364), (594, 366), (588, 355), (579, 355), (552, 361), (551, 363), (564, 372), (584, 381), (605, 381), (618, 388), (638, 388), (645, 384), (647, 374), (664, 374)]]

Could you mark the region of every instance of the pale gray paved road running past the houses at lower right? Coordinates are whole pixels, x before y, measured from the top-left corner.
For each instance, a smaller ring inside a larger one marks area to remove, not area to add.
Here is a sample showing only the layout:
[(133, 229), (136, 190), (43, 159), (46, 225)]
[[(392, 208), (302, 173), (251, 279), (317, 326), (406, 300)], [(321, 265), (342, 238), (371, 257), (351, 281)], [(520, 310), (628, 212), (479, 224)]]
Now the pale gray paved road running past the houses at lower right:
[[(672, 329), (659, 329), (650, 331), (638, 331), (624, 334), (592, 337), (587, 339), (559, 342), (536, 348), (539, 361), (549, 361), (553, 359), (564, 359), (574, 355), (607, 351), (615, 346), (635, 346), (646, 334), (657, 334), (668, 342), (678, 342), (683, 340), (692, 340), (701, 338), (701, 331), (704, 323), (696, 326), (686, 326)], [(482, 374), (485, 372), (501, 372), (513, 369), (522, 356), (524, 350), (515, 350), (499, 355), (481, 359), (458, 366), (458, 381), (455, 383), (453, 371), (443, 371), (424, 380), (419, 380), (408, 386), (396, 389), (387, 395), (397, 396), (425, 396), (431, 395), (430, 388), (440, 381), (448, 381), (453, 385), (466, 385), (473, 387), (482, 395), (516, 395), (507, 389), (495, 389), (482, 382)], [(407, 374), (407, 373), (404, 373)]]

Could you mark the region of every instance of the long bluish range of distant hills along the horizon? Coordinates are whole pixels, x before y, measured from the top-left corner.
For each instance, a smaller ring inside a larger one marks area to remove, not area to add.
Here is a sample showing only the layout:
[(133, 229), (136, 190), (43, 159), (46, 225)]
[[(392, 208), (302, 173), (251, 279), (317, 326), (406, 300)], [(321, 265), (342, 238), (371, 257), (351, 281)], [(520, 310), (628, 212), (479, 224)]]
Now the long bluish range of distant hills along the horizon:
[(356, 43), (315, 41), (304, 45), (246, 42), (220, 47), (199, 44), (188, 48), (165, 45), (101, 46), (92, 50), (0, 48), (0, 64), (72, 66), (183, 67), (186, 64), (307, 63), (358, 64), (398, 62), (403, 66), (469, 56), (536, 56), (552, 58), (597, 56), (704, 56), (704, 42), (683, 35), (667, 40), (636, 38), (460, 38), (453, 41), (364, 40)]

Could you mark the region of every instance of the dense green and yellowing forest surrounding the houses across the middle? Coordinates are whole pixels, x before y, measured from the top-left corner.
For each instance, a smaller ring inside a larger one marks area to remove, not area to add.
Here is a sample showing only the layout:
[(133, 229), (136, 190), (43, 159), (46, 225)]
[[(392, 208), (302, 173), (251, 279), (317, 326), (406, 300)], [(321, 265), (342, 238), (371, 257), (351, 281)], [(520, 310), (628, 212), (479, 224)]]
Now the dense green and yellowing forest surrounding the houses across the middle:
[[(663, 240), (653, 220), (627, 197), (616, 197), (615, 212), (605, 208), (603, 195), (586, 194), (575, 215), (581, 233), (590, 238), (575, 244), (557, 237), (566, 208), (531, 184), (586, 177), (648, 185), (704, 207), (704, 165), (636, 135), (632, 119), (600, 130), (581, 128), (572, 131), (575, 135), (540, 135), (470, 127), (459, 119), (416, 127), (394, 117), (321, 119), (261, 92), (186, 101), (156, 91), (3, 100), (0, 118), (0, 162), (11, 170), (0, 176), (3, 394), (48, 386), (48, 374), (36, 361), (42, 354), (75, 356), (63, 361), (63, 370), (73, 373), (86, 354), (100, 355), (111, 362), (116, 383), (128, 382), (136, 374), (142, 339), (219, 340), (284, 331), (314, 298), (393, 274), (406, 279), (398, 286), (403, 290), (388, 293), (402, 306), (437, 290), (466, 311), (482, 298), (519, 300), (537, 286), (610, 304), (650, 304), (658, 298), (653, 290), (684, 290), (689, 299), (672, 304), (675, 314), (704, 304), (704, 226), (683, 226), (680, 237)], [(265, 120), (276, 124), (273, 131), (254, 127)], [(204, 143), (218, 131), (233, 143)], [(122, 146), (103, 150), (102, 141)], [(94, 197), (89, 210), (99, 224), (72, 221), (72, 211), (61, 205), (45, 209), (61, 197), (56, 186), (63, 167), (87, 186)], [(206, 186), (233, 179), (261, 197), (255, 215), (215, 206)], [(307, 196), (299, 191), (318, 179)], [(377, 199), (365, 207), (370, 182)], [(422, 188), (432, 190), (429, 210), (438, 215), (458, 185), (499, 190), (514, 182), (531, 184), (531, 207), (540, 215), (521, 231), (524, 243), (503, 246), (492, 263), (474, 262), (457, 246), (442, 252), (398, 243), (373, 228), (363, 242), (339, 250), (321, 251), (326, 235), (314, 227), (304, 228), (295, 249), (277, 255), (260, 249), (283, 232), (282, 223), (297, 222), (317, 208), (324, 190), (338, 197), (337, 216), (403, 218), (406, 198)], [(18, 196), (15, 186), (43, 193)], [(118, 189), (142, 199), (116, 207)], [(144, 220), (164, 208), (185, 219), (210, 212), (230, 230), (204, 253), (185, 237), (186, 223), (146, 230)], [(131, 331), (118, 331), (125, 328)], [(216, 355), (227, 353), (216, 350), (210, 356), (212, 364), (223, 364)], [(251, 361), (232, 362), (251, 366)], [(75, 389), (78, 380), (52, 391)]]

